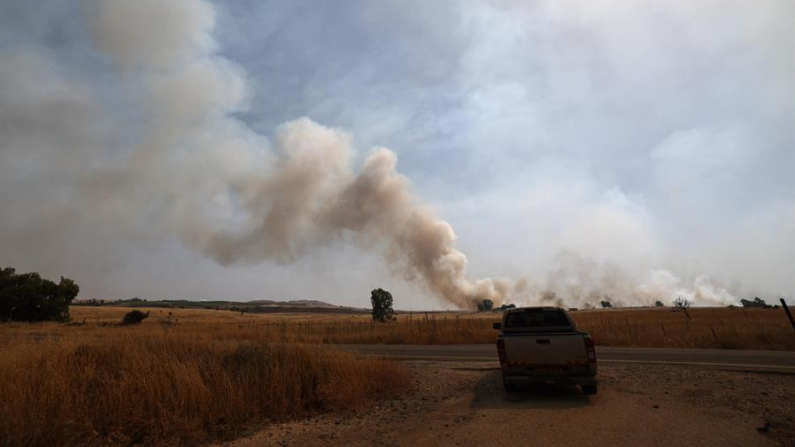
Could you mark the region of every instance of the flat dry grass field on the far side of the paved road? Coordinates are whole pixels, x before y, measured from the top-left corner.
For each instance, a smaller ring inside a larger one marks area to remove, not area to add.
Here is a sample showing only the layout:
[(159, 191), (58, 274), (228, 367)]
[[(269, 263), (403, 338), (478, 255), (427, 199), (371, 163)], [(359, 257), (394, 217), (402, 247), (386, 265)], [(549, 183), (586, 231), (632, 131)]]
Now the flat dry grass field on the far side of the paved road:
[[(116, 322), (127, 308), (74, 307), (72, 319)], [(152, 309), (141, 329), (197, 338), (307, 343), (468, 344), (492, 343), (500, 313), (402, 314), (389, 324), (367, 315), (240, 314), (201, 309)], [(795, 335), (781, 309), (610, 309), (571, 312), (580, 329), (601, 346), (795, 350)], [(44, 325), (42, 329), (48, 326)], [(58, 326), (58, 330), (64, 330)], [(86, 336), (91, 324), (71, 328)], [(1, 330), (1, 329), (0, 329)], [(46, 329), (52, 330), (52, 329)]]

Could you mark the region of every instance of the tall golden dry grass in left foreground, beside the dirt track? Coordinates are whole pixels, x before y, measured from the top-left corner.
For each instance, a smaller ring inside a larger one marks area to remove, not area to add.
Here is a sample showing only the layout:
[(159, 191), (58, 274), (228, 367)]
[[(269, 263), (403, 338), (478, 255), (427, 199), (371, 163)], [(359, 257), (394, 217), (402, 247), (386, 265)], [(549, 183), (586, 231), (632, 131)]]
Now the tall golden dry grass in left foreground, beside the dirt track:
[(409, 386), (400, 365), (329, 347), (190, 333), (0, 325), (0, 445), (196, 445)]

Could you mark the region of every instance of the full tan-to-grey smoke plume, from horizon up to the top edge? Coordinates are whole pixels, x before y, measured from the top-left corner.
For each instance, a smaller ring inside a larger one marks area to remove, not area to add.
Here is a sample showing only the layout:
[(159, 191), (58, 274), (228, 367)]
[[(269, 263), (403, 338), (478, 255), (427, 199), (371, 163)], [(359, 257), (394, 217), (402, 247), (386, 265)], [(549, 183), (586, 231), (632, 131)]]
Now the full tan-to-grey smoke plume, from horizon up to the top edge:
[[(393, 152), (374, 149), (354, 173), (351, 136), (307, 118), (282, 125), (269, 153), (246, 144), (251, 131), (230, 115), (247, 100), (244, 75), (214, 53), (207, 3), (104, 0), (91, 15), (96, 46), (138, 83), (150, 117), (122, 177), (149, 177), (144, 188), (166, 193), (190, 245), (231, 265), (288, 263), (347, 240), (385, 250), (406, 278), (454, 306), (504, 300), (507, 280), (466, 279), (452, 228), (412, 197)], [(234, 141), (246, 143), (230, 150)]]

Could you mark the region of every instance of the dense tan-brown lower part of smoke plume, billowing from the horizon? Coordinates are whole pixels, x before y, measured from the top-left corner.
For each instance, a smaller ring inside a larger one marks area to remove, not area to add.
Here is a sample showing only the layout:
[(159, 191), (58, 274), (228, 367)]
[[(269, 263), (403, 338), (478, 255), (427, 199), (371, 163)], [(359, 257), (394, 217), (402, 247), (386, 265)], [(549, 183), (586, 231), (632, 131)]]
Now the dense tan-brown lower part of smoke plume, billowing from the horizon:
[(203, 251), (227, 265), (290, 262), (329, 239), (386, 244), (387, 259), (407, 279), (448, 303), (502, 302), (508, 281), (465, 278), (467, 259), (453, 248), (453, 229), (416, 204), (395, 154), (376, 148), (354, 174), (348, 140), (305, 118), (283, 125), (275, 172), (235, 185), (245, 221), (237, 232), (203, 232), (197, 238)]

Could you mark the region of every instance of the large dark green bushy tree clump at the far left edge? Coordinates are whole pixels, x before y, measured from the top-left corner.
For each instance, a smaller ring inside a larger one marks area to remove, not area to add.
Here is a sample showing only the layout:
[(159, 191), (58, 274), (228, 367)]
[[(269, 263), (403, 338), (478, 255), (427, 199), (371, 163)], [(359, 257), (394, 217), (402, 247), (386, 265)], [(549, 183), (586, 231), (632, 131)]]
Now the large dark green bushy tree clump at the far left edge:
[(56, 284), (38, 273), (0, 269), (0, 321), (69, 321), (69, 304), (80, 287), (61, 277)]

